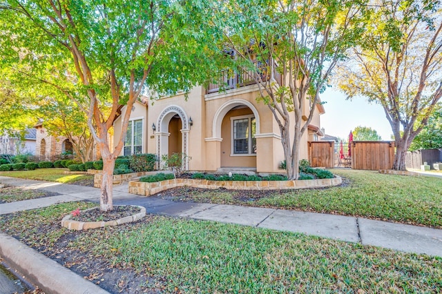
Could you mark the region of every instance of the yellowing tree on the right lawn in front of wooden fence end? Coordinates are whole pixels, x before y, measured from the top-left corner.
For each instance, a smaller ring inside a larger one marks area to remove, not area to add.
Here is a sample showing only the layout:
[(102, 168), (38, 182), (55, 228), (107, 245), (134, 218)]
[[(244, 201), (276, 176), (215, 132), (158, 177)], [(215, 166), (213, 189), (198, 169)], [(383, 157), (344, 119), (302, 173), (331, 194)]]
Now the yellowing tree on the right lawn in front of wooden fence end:
[(340, 88), (381, 104), (396, 145), (393, 168), (405, 170), (405, 154), (442, 97), (440, 1), (369, 1), (367, 30), (340, 65)]

